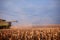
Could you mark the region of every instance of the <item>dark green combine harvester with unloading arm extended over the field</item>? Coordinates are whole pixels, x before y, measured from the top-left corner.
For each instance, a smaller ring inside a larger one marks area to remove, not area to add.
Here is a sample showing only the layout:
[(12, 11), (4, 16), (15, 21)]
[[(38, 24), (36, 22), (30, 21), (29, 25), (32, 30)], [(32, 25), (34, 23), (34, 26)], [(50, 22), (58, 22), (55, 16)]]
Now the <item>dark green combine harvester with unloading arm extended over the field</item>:
[(12, 22), (17, 22), (15, 21), (6, 21), (4, 19), (0, 19), (0, 29), (9, 29), (11, 27)]

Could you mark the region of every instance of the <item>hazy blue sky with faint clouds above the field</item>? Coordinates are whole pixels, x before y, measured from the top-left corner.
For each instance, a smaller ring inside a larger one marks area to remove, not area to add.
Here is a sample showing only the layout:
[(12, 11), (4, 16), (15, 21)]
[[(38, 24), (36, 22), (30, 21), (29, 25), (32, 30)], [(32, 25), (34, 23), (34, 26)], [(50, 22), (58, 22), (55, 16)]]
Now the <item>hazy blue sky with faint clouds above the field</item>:
[(0, 0), (0, 18), (17, 25), (60, 24), (59, 10), (60, 0)]

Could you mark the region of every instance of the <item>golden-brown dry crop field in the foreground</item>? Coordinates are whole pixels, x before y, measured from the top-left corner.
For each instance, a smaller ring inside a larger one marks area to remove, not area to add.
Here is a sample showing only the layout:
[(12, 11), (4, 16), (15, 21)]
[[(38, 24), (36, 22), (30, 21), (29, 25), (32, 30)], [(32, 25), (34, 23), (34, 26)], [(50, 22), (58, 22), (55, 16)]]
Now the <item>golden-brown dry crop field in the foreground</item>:
[(60, 40), (60, 28), (0, 29), (0, 40)]

